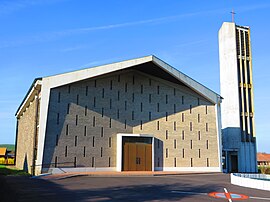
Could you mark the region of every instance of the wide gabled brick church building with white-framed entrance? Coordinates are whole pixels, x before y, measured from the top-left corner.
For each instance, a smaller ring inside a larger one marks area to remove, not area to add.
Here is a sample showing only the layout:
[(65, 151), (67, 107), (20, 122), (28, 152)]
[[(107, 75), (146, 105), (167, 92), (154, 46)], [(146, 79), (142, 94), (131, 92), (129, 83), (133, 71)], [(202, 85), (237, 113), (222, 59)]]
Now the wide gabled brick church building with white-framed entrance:
[(16, 112), (16, 166), (221, 172), (221, 100), (152, 55), (36, 78)]

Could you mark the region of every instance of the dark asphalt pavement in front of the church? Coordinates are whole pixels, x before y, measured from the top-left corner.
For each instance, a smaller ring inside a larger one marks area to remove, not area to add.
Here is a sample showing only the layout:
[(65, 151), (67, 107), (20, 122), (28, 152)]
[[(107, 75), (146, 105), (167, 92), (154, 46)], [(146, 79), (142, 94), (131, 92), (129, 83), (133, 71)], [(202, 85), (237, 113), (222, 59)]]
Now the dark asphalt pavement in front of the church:
[[(244, 201), (270, 201), (270, 192), (230, 184), (226, 174), (93, 177), (41, 180), (5, 177), (10, 198), (0, 201), (228, 201), (210, 192), (244, 194)], [(2, 186), (1, 186), (2, 187)], [(222, 195), (221, 194), (221, 195)], [(7, 195), (8, 196), (8, 195)], [(237, 196), (237, 195), (236, 195)], [(1, 200), (2, 199), (2, 200)], [(232, 199), (234, 201), (234, 199)]]

